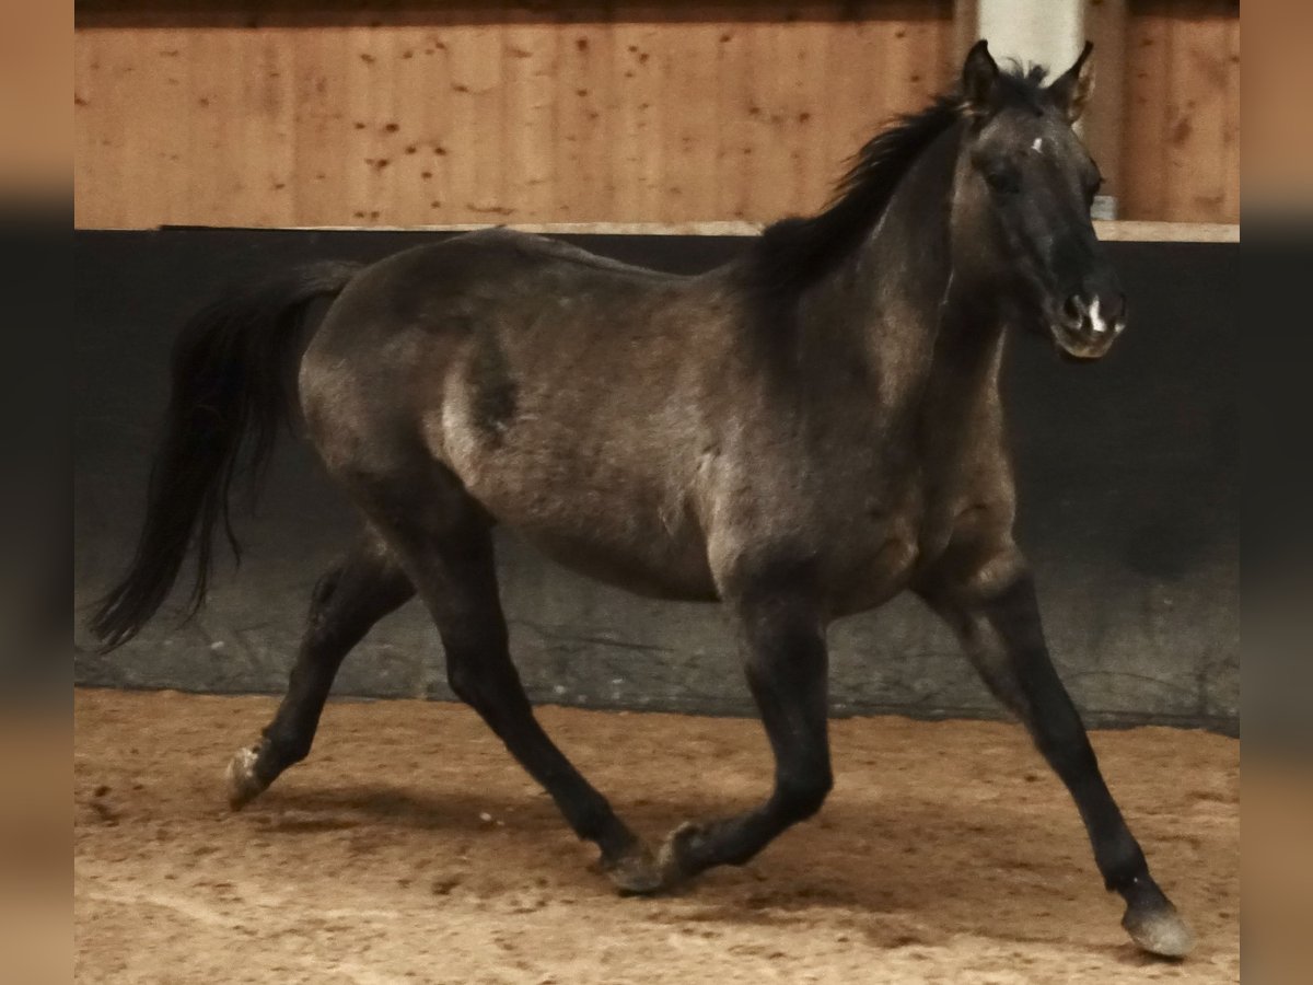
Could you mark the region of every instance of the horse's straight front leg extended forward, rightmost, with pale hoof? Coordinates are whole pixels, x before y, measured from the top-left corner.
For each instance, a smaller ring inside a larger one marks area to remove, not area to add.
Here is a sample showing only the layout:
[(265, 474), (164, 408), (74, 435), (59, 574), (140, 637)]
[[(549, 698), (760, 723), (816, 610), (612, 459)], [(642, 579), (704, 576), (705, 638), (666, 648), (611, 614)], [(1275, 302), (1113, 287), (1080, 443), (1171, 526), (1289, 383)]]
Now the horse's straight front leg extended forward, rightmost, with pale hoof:
[(1190, 929), (1158, 884), (1103, 780), (1081, 716), (1049, 658), (1035, 583), (1016, 549), (977, 556), (923, 586), (994, 695), (1025, 724), (1085, 821), (1104, 885), (1127, 902), (1121, 925), (1145, 951), (1180, 957)]

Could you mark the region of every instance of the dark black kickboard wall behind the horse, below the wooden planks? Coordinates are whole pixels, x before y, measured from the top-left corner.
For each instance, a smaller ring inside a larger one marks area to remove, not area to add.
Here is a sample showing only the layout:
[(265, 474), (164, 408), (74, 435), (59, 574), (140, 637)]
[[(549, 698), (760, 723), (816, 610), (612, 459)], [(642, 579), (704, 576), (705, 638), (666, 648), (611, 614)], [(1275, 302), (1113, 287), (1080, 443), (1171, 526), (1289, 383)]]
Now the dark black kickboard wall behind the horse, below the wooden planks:
[[(131, 556), (177, 327), (226, 285), (322, 257), (369, 260), (437, 232), (160, 230), (75, 234), (76, 680), (280, 693), (310, 588), (349, 542), (352, 508), (312, 452), (285, 441), (239, 571), (207, 608), (176, 602), (133, 644), (96, 654), (87, 604)], [(697, 272), (738, 238), (567, 236), (601, 253)], [(1004, 398), (1019, 541), (1037, 573), (1056, 662), (1095, 724), (1238, 729), (1239, 248), (1111, 243), (1132, 324), (1098, 365), (1035, 338), (1010, 345)], [(751, 713), (717, 607), (658, 603), (586, 580), (511, 535), (499, 545), (516, 662), (536, 701)], [(179, 599), (179, 596), (175, 596)], [(986, 716), (999, 709), (951, 634), (914, 599), (831, 630), (836, 713)], [(449, 699), (436, 633), (411, 603), (379, 624), (335, 690)]]

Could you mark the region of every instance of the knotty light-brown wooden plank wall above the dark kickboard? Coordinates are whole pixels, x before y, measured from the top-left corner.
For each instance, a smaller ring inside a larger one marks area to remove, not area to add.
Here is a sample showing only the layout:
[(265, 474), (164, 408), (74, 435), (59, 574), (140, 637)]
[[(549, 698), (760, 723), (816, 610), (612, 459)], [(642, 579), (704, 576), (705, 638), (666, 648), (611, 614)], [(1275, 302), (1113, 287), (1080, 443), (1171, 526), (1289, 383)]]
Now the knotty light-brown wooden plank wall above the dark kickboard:
[[(1238, 17), (1222, 8), (1130, 0), (1127, 218), (1238, 215)], [(955, 76), (953, 12), (84, 0), (75, 222), (769, 221), (818, 208), (882, 121)]]

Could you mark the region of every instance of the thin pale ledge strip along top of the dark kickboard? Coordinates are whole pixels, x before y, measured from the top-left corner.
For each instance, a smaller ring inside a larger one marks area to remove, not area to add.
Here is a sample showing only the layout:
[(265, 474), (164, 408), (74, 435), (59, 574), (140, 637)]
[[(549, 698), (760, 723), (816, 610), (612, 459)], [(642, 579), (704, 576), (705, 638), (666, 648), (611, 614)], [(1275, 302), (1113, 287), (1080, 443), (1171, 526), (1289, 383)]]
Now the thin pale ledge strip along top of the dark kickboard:
[[(471, 232), (494, 223), (448, 223), (440, 226), (280, 226), (307, 231), (360, 232)], [(600, 236), (755, 236), (762, 226), (755, 222), (508, 222), (508, 229), (521, 232)], [(1096, 221), (1099, 239), (1141, 243), (1238, 243), (1239, 226), (1220, 222), (1129, 222)]]

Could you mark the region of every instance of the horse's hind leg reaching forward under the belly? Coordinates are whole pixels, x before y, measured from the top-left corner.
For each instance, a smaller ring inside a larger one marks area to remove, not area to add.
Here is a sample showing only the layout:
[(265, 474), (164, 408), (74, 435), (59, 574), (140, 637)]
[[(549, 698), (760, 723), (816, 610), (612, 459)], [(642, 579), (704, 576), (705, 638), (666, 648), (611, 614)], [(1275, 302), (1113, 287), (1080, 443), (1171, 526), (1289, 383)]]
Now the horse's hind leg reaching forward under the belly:
[[(446, 486), (453, 479), (440, 482)], [(551, 795), (575, 834), (597, 844), (603, 867), (621, 889), (654, 889), (651, 859), (642, 843), (533, 714), (507, 645), (491, 529), (473, 500), (460, 495), (463, 502), (457, 504), (450, 495), (435, 491), (421, 496), (424, 504), (394, 506), (379, 514), (391, 524), (389, 540), (437, 624), (452, 690)], [(439, 499), (461, 519), (440, 520), (424, 508)]]

